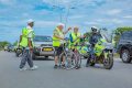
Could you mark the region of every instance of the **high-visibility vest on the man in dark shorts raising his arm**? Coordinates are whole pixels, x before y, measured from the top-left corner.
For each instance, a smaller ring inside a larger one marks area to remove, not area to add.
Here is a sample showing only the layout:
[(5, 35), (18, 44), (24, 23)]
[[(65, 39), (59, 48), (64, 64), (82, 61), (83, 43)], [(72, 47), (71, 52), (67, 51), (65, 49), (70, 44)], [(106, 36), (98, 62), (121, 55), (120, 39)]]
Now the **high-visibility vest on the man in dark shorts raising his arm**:
[[(55, 30), (58, 32), (59, 34), (58, 36), (61, 37), (64, 36), (63, 32), (61, 32), (58, 28), (56, 28)], [(61, 40), (55, 37), (54, 35), (53, 35), (53, 46), (61, 46)]]

